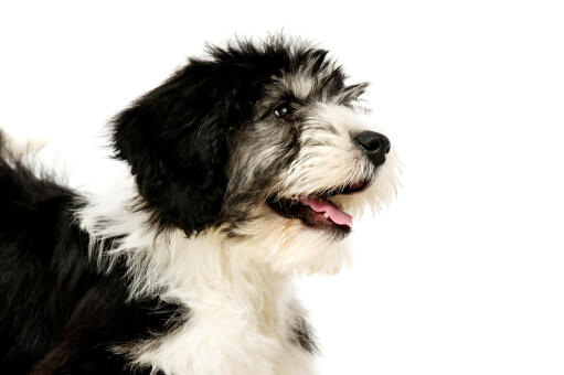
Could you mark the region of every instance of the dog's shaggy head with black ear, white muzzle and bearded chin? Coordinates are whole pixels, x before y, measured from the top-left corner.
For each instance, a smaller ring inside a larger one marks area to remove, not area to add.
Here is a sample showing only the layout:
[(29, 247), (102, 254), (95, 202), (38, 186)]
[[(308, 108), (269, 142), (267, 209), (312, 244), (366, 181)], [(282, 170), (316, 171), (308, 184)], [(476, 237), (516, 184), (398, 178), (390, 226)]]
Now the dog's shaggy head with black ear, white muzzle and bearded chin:
[(395, 152), (328, 52), (281, 38), (211, 47), (114, 121), (152, 225), (216, 229), (280, 272), (336, 271), (352, 216), (395, 193)]

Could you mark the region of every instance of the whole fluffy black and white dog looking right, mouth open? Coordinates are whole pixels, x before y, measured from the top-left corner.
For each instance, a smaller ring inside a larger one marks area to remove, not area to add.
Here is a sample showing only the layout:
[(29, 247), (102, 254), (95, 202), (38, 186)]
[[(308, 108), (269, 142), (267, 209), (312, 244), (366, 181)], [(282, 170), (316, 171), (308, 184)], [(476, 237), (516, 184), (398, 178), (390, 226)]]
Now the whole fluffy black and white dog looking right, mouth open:
[(105, 193), (2, 137), (1, 374), (313, 374), (297, 272), (350, 260), (352, 215), (395, 194), (389, 139), (328, 52), (210, 47), (110, 125)]

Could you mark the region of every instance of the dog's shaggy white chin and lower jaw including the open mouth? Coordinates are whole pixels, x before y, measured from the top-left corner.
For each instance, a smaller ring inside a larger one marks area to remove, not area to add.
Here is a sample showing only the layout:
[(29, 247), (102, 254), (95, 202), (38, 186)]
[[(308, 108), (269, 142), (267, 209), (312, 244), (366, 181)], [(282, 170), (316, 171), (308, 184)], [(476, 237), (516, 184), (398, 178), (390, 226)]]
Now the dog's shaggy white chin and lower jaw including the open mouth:
[(278, 274), (337, 274), (351, 264), (352, 217), (338, 195), (363, 195), (369, 182), (299, 199), (269, 199), (237, 227), (230, 251)]

